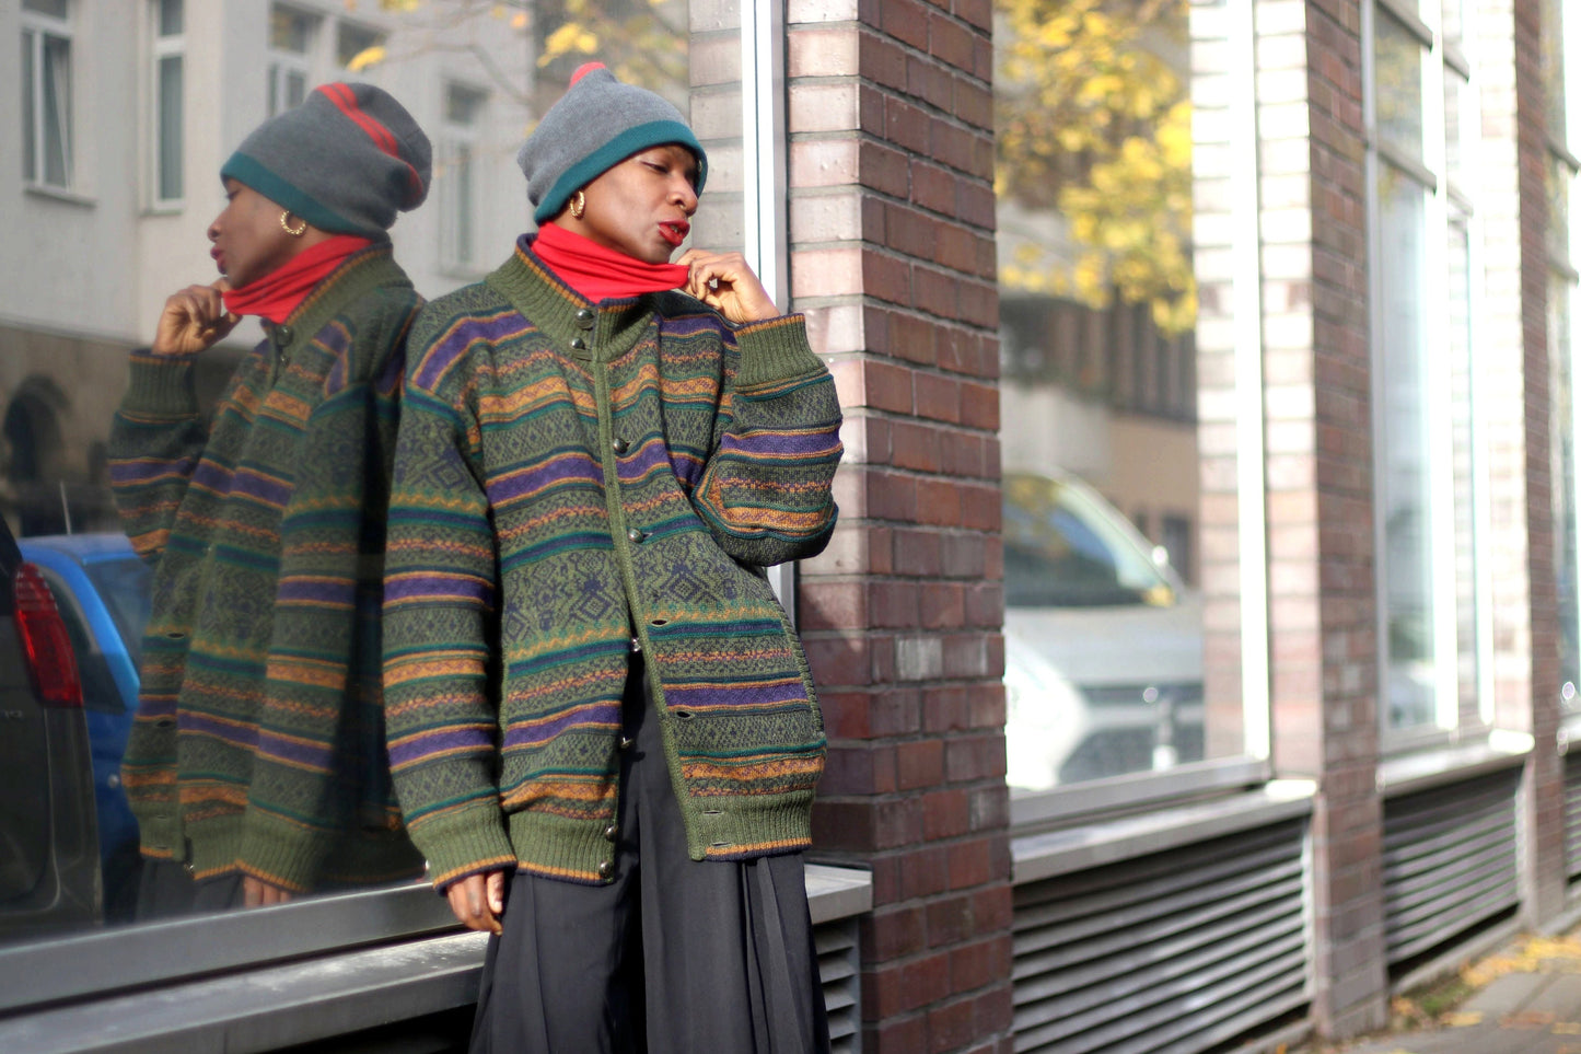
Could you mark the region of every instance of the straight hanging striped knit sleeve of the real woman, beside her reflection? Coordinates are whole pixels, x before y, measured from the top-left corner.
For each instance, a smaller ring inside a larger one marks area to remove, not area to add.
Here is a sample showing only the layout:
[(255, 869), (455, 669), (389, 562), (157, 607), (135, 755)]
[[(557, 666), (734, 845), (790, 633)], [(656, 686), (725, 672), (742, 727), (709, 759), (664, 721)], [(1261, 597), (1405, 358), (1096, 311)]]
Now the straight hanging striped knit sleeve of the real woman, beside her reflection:
[(493, 525), (476, 416), (436, 388), (460, 372), (465, 334), (413, 343), (384, 579), (391, 774), (436, 886), (515, 864), (495, 777), (498, 636)]

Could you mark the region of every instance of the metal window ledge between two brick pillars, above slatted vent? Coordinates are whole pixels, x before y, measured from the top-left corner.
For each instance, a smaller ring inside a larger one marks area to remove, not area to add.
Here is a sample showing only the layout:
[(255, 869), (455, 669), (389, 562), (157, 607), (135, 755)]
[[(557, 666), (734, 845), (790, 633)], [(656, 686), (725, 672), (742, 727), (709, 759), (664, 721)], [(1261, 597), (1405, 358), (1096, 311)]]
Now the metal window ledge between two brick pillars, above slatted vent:
[(1312, 812), (1317, 783), (1270, 780), (1257, 790), (1010, 842), (1015, 885), (1100, 867)]

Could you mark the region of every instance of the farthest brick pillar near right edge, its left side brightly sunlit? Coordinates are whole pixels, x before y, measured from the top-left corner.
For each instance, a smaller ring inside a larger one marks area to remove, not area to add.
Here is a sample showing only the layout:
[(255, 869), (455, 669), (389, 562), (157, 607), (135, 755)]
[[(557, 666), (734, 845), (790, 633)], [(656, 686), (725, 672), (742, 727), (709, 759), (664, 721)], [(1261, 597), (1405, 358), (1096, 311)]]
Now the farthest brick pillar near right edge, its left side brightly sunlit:
[(1494, 720), (1535, 741), (1521, 785), (1521, 904), (1530, 924), (1565, 900), (1559, 622), (1549, 462), (1548, 193), (1538, 0), (1481, 5)]

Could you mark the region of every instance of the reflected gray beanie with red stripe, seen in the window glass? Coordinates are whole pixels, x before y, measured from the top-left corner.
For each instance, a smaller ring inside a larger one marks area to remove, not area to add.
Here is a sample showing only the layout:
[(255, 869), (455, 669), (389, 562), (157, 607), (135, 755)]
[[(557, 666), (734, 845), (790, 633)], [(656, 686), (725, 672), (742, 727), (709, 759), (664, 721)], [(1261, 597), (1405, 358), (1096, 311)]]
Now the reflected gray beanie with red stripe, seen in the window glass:
[(242, 139), (220, 179), (251, 187), (321, 231), (384, 237), (428, 195), (428, 136), (389, 92), (324, 84)]

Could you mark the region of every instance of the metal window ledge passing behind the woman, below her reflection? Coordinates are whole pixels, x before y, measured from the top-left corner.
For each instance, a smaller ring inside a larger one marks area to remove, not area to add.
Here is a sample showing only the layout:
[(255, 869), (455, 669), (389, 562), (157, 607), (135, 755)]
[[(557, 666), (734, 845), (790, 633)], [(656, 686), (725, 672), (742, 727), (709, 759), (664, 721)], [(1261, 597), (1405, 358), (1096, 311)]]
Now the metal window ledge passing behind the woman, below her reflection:
[[(813, 923), (873, 905), (868, 872), (809, 864)], [(0, 1049), (248, 1054), (409, 1021), (477, 997), (485, 934), (451, 932), (89, 999), (0, 1021)]]

